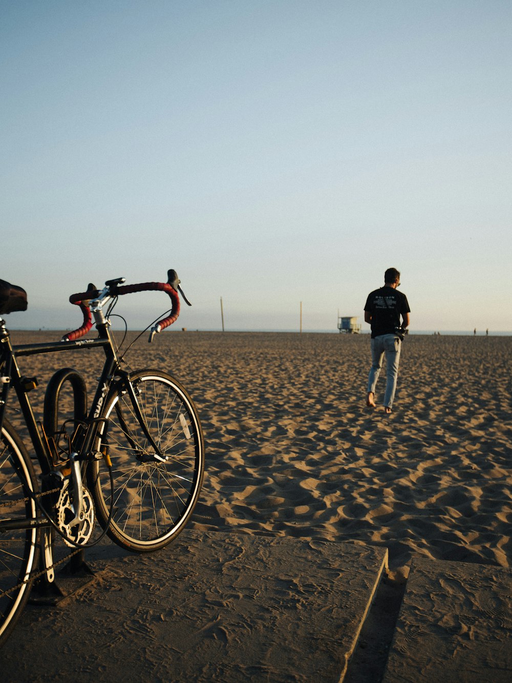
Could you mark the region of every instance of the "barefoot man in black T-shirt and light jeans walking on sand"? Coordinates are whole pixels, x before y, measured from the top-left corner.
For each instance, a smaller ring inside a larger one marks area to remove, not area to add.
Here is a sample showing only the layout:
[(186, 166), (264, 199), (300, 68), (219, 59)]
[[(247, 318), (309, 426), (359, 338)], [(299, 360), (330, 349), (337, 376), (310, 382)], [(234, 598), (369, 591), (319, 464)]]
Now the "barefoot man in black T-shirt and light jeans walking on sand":
[(365, 322), (371, 325), (371, 370), (366, 404), (369, 408), (375, 408), (375, 387), (386, 354), (384, 411), (388, 414), (393, 408), (400, 348), (405, 334), (400, 330), (405, 330), (409, 325), (410, 308), (407, 296), (397, 291), (399, 285), (399, 271), (396, 268), (388, 268), (384, 273), (384, 287), (370, 292), (365, 305)]

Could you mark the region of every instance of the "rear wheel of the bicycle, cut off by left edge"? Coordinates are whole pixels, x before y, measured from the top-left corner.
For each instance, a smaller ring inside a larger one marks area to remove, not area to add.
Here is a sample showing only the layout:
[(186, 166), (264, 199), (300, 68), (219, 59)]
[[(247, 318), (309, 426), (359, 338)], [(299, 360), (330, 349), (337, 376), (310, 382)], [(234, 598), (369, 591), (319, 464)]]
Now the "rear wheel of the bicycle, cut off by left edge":
[[(0, 434), (0, 519), (37, 517), (29, 498), (37, 490), (27, 449), (6, 419)], [(24, 500), (25, 499), (25, 500)], [(0, 533), (0, 646), (18, 621), (33, 584), (33, 568), (38, 566), (39, 531), (35, 528)]]

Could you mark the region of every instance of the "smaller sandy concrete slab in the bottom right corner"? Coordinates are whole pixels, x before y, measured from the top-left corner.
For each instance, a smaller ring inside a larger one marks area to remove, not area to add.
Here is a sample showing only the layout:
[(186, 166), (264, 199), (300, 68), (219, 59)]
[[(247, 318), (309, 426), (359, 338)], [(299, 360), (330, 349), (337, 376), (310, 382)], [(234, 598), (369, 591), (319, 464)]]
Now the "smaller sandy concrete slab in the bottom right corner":
[(512, 680), (512, 570), (415, 559), (384, 683)]

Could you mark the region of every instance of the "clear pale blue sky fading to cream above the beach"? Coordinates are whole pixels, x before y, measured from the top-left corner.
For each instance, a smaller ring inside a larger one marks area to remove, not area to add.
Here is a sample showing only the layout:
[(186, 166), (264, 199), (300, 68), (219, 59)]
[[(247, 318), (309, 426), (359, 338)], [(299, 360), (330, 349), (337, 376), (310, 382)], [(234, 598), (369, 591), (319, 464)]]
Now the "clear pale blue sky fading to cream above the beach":
[[(11, 326), (175, 268), (180, 327), (220, 329), (222, 297), (228, 330), (298, 329), (300, 302), (336, 329), (393, 266), (412, 330), (512, 331), (510, 0), (0, 0), (0, 24)], [(167, 298), (123, 303), (141, 327)]]

